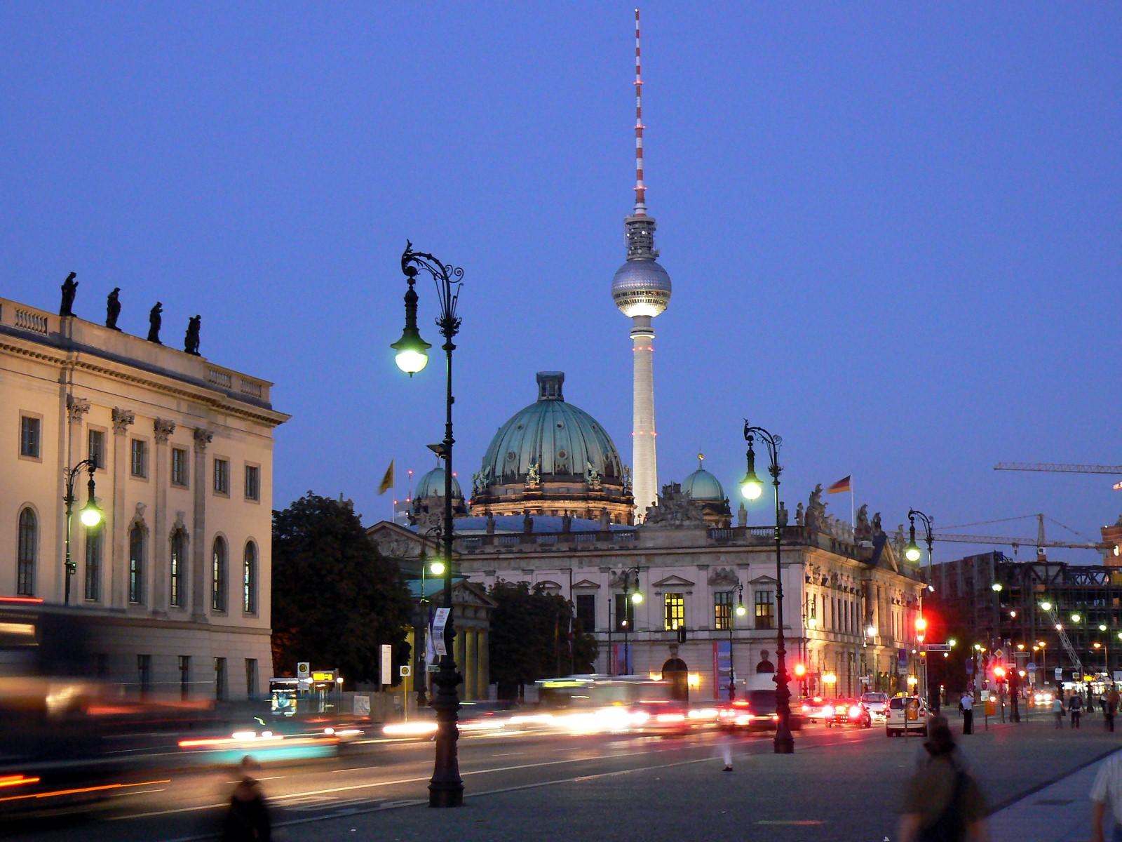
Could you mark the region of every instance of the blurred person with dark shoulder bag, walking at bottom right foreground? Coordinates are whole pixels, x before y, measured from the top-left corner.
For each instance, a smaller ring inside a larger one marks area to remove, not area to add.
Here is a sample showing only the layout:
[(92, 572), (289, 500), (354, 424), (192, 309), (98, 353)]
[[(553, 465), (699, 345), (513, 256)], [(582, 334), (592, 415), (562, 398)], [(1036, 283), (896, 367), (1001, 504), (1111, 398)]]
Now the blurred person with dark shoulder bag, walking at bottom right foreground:
[(973, 776), (957, 762), (946, 722), (928, 729), (929, 759), (908, 784), (900, 842), (965, 842), (986, 839), (986, 804)]

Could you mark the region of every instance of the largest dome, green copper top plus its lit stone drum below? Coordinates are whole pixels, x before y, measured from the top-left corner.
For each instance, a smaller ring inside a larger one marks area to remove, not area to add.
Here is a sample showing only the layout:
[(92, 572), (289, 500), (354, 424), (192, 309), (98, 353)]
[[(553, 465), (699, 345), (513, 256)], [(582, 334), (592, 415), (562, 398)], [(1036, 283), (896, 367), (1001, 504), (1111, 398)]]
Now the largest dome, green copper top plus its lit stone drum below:
[(473, 514), (563, 515), (628, 523), (631, 475), (607, 431), (565, 403), (562, 372), (537, 373), (537, 400), (491, 439), (472, 477)]

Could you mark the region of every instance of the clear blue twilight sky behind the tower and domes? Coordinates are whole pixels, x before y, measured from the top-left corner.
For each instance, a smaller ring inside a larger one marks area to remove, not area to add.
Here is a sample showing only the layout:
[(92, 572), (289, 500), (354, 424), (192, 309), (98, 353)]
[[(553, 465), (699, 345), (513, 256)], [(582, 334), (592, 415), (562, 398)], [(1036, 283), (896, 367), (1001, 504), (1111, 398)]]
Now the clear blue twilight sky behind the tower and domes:
[[(852, 474), (890, 532), (914, 506), (937, 529), (1045, 512), (1097, 540), (1122, 477), (992, 468), (1122, 463), (1122, 8), (642, 9), (647, 203), (674, 283), (660, 483), (700, 447), (733, 495), (747, 415), (784, 438), (792, 510)], [(465, 484), (540, 369), (631, 461), (609, 287), (632, 6), (22, 2), (0, 43), (0, 295), (55, 309), (75, 271), (80, 315), (102, 320), (119, 285), (121, 326), (144, 336), (158, 298), (174, 342), (201, 313), (202, 353), (293, 414), (278, 506), (341, 492), (374, 522), (392, 458), (399, 478), (433, 464), (442, 366), (410, 381), (388, 348), (407, 237), (466, 269)], [(936, 559), (985, 549), (1010, 552)]]

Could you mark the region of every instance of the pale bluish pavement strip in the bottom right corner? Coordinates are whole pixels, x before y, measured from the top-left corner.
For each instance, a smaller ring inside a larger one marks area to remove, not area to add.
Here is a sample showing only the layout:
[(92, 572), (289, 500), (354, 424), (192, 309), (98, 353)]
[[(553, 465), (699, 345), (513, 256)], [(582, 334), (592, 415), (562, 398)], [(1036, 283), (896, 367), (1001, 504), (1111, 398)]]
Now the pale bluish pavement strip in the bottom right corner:
[[(1091, 838), (1091, 785), (1103, 760), (1021, 798), (990, 817), (990, 838), (1017, 842), (1087, 842)], [(1110, 839), (1107, 808), (1106, 839)]]

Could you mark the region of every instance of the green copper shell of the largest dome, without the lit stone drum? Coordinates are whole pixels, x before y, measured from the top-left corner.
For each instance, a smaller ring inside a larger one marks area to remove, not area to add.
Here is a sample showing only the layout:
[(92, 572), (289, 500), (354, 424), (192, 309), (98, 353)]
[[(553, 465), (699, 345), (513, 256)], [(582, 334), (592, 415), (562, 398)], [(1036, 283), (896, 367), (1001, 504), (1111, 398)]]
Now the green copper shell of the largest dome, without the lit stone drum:
[(583, 478), (588, 466), (608, 483), (623, 482), (623, 461), (611, 437), (583, 410), (564, 402), (562, 372), (537, 373), (537, 401), (503, 424), (484, 456), (482, 486), (541, 477)]

